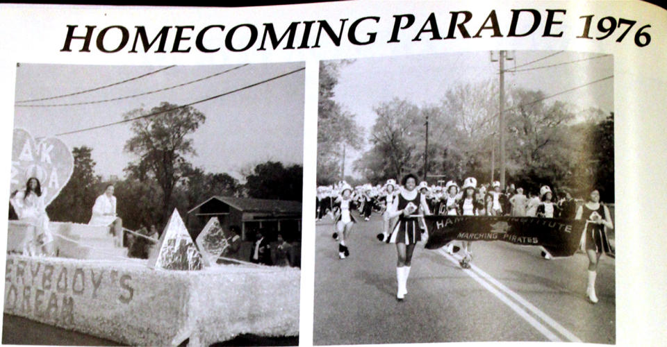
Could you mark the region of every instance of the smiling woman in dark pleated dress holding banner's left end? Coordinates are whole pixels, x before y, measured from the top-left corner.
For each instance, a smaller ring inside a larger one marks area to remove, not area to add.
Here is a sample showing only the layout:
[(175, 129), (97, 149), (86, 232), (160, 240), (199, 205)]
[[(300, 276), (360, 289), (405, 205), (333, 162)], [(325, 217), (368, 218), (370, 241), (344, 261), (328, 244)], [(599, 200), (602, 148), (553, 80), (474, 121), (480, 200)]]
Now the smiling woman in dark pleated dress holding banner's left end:
[(398, 217), (398, 223), (389, 237), (389, 242), (396, 244), (396, 279), (398, 283), (396, 299), (398, 301), (402, 301), (405, 294), (408, 294), (407, 280), (410, 275), (412, 255), (415, 244), (421, 240), (419, 221), (415, 216), (419, 213), (420, 208), (425, 214), (431, 213), (425, 196), (415, 189), (417, 176), (407, 174), (401, 183), (404, 189), (394, 199), (389, 212), (390, 218)]

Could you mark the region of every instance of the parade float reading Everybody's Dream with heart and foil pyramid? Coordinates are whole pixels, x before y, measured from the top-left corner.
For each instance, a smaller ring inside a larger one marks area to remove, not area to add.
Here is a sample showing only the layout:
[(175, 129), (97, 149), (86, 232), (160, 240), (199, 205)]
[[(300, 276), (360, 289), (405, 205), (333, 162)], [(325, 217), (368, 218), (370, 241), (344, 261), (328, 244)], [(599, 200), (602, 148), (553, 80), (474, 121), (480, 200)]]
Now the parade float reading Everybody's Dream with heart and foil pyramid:
[[(14, 132), (11, 189), (30, 176), (50, 203), (73, 171), (59, 139)], [(26, 177), (27, 176), (27, 177)], [(8, 225), (4, 312), (134, 346), (208, 346), (241, 334), (299, 333), (299, 269), (237, 261), (212, 221), (195, 239), (174, 210), (149, 260), (126, 256), (108, 227), (51, 221), (57, 257), (22, 254), (28, 224)]]

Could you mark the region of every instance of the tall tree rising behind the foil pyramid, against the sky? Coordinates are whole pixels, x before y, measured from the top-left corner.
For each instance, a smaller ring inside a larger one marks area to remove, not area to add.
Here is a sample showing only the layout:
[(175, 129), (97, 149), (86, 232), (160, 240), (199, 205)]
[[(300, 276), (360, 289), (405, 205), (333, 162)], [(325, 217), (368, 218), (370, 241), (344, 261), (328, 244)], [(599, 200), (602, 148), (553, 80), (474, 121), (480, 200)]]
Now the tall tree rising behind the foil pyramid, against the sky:
[(172, 193), (179, 180), (192, 171), (187, 155), (197, 155), (188, 135), (194, 133), (206, 121), (203, 113), (191, 106), (179, 107), (167, 102), (160, 103), (148, 112), (142, 108), (124, 115), (125, 119), (139, 115), (132, 122), (134, 136), (125, 143), (125, 151), (137, 155), (138, 161), (126, 167), (130, 178), (144, 182), (148, 178), (157, 180), (162, 189), (162, 217), (171, 212)]

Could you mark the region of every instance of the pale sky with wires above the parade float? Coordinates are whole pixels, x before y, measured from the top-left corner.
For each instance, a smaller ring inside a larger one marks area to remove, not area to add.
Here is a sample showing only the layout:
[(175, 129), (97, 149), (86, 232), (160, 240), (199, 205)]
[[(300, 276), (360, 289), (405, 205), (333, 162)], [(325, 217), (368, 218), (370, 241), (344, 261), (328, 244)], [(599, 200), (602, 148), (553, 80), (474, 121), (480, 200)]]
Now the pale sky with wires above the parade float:
[[(47, 137), (123, 119), (138, 108), (150, 110), (167, 101), (183, 105), (236, 90), (304, 67), (303, 62), (256, 64), (171, 90), (120, 101), (62, 107), (19, 107), (100, 101), (160, 90), (217, 74), (240, 65), (179, 65), (113, 87), (46, 101), (16, 103), (14, 127), (33, 137)], [(158, 66), (95, 66), (21, 64), (17, 67), (16, 101), (40, 99), (89, 90), (147, 74)], [(190, 135), (196, 156), (188, 159), (207, 172), (226, 172), (242, 179), (240, 171), (259, 162), (303, 163), (304, 71), (256, 87), (193, 105), (206, 121)], [(133, 134), (130, 123), (71, 135), (60, 135), (69, 149), (92, 147), (96, 174), (124, 177), (123, 169), (136, 160), (123, 147)]]

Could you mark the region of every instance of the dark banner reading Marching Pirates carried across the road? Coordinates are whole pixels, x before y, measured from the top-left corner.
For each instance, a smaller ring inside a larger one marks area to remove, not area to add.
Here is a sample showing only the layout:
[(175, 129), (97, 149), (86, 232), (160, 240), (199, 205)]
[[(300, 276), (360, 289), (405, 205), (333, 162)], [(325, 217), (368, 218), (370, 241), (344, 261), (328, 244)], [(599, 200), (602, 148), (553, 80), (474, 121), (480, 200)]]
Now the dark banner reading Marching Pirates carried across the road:
[(586, 221), (534, 217), (425, 216), (427, 249), (452, 240), (504, 241), (523, 246), (543, 246), (554, 257), (573, 255)]

